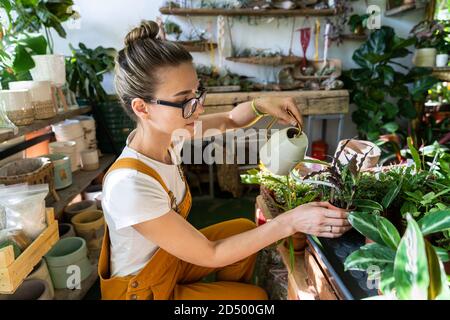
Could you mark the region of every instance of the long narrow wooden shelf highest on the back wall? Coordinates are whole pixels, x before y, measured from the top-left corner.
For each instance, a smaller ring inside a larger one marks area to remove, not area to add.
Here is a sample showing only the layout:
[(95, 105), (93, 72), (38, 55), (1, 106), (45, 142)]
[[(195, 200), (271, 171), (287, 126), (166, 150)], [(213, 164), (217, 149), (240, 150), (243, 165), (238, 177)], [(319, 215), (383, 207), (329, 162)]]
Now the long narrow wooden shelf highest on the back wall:
[(257, 17), (297, 17), (297, 16), (333, 16), (336, 15), (336, 9), (187, 9), (187, 8), (168, 8), (159, 9), (162, 14), (171, 14), (178, 16), (257, 16)]

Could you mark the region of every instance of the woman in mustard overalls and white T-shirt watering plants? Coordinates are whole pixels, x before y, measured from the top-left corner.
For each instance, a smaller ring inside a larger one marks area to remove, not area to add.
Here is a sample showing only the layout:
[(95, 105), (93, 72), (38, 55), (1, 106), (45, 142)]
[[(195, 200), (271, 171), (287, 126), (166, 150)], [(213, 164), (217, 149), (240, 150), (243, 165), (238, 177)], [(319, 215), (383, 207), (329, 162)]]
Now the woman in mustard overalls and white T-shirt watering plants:
[[(266, 299), (249, 284), (255, 254), (295, 232), (338, 237), (350, 228), (347, 213), (309, 203), (258, 228), (246, 219), (202, 230), (190, 225), (191, 196), (177, 165), (183, 139), (173, 139), (175, 131), (192, 137), (197, 121), (202, 132), (242, 128), (261, 114), (296, 124), (301, 115), (293, 99), (260, 98), (200, 116), (205, 92), (191, 55), (158, 33), (155, 22), (143, 22), (126, 36), (117, 58), (117, 93), (137, 129), (104, 180), (102, 298)], [(200, 282), (212, 272), (216, 282)]]

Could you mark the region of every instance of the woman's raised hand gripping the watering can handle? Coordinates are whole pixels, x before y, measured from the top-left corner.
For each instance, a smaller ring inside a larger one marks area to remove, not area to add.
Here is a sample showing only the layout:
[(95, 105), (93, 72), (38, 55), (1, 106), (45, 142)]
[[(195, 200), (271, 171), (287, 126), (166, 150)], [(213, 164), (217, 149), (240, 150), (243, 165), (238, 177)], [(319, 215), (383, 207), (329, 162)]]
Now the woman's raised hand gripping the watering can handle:
[(255, 99), (255, 107), (262, 113), (274, 116), (284, 125), (303, 127), (303, 119), (293, 98), (264, 97)]

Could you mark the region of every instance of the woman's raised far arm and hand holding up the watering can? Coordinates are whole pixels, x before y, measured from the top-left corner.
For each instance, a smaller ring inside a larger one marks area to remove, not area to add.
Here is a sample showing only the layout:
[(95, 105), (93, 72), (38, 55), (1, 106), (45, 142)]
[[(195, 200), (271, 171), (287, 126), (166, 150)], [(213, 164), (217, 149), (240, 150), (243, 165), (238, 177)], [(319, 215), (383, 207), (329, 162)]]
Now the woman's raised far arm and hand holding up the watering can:
[[(226, 130), (250, 127), (261, 118), (255, 114), (251, 104), (252, 101), (243, 102), (229, 112), (200, 116), (202, 136), (207, 137)], [(254, 99), (254, 104), (259, 112), (280, 119), (281, 124), (296, 125), (298, 122), (303, 124), (302, 116), (293, 98), (257, 98)], [(287, 112), (288, 110), (294, 117)]]

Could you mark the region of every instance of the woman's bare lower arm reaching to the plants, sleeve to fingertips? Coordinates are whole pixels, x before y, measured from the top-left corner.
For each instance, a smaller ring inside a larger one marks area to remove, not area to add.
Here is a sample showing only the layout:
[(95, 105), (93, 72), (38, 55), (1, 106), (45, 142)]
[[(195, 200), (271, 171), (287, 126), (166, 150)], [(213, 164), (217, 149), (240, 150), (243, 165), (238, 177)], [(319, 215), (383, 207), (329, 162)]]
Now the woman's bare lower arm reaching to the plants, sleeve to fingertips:
[[(218, 241), (208, 240), (175, 211), (134, 226), (163, 250), (192, 264), (223, 267), (299, 231), (323, 237), (337, 237), (350, 227), (347, 213), (328, 203), (299, 206), (269, 223)], [(329, 233), (329, 226), (334, 233)]]

